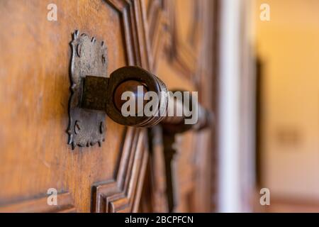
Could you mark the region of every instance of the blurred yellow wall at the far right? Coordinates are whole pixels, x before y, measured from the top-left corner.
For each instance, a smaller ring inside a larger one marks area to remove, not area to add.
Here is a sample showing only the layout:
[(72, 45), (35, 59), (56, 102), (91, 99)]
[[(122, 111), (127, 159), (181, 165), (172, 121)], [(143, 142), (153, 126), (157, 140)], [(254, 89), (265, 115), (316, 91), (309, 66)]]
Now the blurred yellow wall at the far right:
[[(259, 20), (262, 3), (271, 21)], [(319, 1), (256, 0), (254, 11), (264, 62), (263, 187), (319, 201)]]

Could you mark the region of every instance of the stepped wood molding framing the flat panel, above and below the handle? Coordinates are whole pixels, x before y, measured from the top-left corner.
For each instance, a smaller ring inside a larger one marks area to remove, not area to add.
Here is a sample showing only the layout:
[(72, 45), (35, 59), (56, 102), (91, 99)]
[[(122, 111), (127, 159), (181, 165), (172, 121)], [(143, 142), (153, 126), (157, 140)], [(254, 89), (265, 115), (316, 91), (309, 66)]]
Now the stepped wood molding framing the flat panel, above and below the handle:
[[(141, 0), (106, 0), (120, 13), (128, 65), (150, 69)], [(147, 165), (147, 138), (144, 130), (127, 128), (116, 176), (92, 189), (94, 212), (138, 211)]]

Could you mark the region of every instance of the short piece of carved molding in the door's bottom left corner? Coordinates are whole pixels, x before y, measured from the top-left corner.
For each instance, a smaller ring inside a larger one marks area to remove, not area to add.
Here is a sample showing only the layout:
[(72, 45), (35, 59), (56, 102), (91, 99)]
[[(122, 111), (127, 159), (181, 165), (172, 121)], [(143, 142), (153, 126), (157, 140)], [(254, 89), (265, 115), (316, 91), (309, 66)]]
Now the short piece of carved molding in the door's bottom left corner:
[(74, 201), (69, 192), (57, 194), (57, 205), (48, 205), (47, 196), (28, 199), (0, 207), (0, 213), (74, 213)]

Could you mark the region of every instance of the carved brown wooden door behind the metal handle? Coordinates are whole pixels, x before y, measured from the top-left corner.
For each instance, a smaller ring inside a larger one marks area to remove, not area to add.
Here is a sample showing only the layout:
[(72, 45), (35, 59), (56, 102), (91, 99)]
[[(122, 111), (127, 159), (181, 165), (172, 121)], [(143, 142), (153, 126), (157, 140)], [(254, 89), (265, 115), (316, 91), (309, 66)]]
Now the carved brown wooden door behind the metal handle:
[[(0, 1), (0, 211), (168, 211), (156, 130), (106, 118), (101, 146), (67, 143), (70, 43), (103, 40), (108, 74), (138, 65), (214, 109), (215, 12), (210, 0)], [(211, 132), (177, 135), (174, 211), (212, 210)]]

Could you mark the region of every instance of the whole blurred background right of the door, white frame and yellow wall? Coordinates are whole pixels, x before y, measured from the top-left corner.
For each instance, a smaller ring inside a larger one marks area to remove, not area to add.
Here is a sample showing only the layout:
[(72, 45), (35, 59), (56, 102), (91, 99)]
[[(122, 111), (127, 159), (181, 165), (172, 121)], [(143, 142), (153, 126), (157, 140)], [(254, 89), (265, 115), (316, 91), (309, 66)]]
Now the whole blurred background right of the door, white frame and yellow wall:
[(319, 1), (220, 6), (219, 211), (319, 211)]

